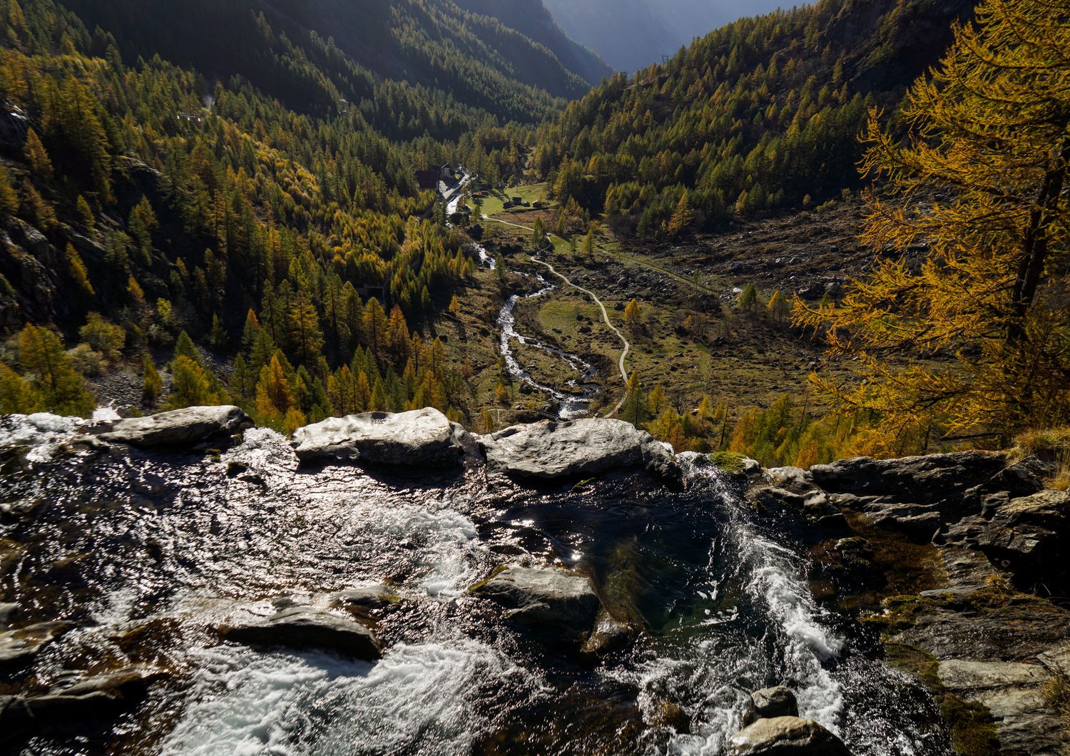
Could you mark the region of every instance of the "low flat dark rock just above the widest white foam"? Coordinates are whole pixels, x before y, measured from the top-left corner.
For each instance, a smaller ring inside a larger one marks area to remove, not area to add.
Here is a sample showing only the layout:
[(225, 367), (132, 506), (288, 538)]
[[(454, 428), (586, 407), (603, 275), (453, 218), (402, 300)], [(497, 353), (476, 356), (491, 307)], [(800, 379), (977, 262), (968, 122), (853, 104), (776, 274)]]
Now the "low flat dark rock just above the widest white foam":
[(219, 634), (227, 641), (250, 646), (284, 646), (322, 649), (364, 661), (380, 658), (374, 634), (358, 622), (307, 606), (292, 606), (264, 619), (225, 624)]

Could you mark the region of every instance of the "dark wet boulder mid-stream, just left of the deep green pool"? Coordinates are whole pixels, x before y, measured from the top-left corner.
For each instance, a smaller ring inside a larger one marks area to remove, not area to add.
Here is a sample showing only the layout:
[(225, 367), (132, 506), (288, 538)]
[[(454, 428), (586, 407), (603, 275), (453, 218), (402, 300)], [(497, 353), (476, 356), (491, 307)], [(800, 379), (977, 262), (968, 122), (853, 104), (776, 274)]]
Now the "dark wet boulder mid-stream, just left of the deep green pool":
[(588, 635), (600, 606), (586, 577), (551, 568), (509, 567), (471, 592), (504, 606), (510, 620), (565, 642)]

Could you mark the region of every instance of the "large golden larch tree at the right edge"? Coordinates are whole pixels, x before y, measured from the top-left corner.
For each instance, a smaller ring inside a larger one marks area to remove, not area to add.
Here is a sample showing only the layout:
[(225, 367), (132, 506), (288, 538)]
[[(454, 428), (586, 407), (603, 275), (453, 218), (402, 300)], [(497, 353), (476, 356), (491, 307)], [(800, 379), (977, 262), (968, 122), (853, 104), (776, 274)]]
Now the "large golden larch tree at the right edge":
[(1070, 5), (983, 0), (902, 121), (866, 137), (873, 271), (794, 310), (861, 383), (814, 382), (900, 448), (1070, 422)]

